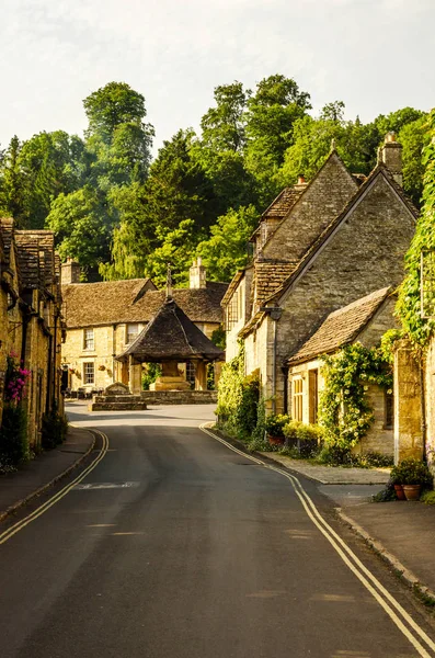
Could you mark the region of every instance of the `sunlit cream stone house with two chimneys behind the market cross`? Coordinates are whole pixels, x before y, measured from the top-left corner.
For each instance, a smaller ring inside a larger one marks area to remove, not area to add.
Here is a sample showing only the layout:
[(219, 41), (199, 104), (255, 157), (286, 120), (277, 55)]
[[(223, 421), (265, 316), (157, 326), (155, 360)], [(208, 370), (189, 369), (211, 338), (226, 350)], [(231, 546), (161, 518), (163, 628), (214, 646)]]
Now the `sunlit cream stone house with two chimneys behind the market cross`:
[[(62, 265), (64, 314), (67, 326), (62, 364), (71, 390), (102, 389), (129, 384), (129, 366), (116, 360), (156, 316), (165, 299), (150, 279), (79, 283), (79, 265)], [(220, 306), (228, 284), (206, 281), (201, 260), (190, 271), (190, 287), (172, 291), (172, 297), (206, 337), (222, 324)], [(186, 381), (195, 383), (193, 361), (180, 363)], [(218, 368), (216, 368), (216, 372)]]

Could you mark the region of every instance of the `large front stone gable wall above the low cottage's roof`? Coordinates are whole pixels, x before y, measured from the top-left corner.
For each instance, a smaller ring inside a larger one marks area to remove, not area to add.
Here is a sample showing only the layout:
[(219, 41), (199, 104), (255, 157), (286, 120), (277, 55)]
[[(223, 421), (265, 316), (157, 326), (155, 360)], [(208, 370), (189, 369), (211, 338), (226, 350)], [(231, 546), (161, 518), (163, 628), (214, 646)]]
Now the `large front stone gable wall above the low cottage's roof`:
[[(414, 222), (384, 177), (378, 178), (311, 269), (281, 300), (279, 365), (329, 313), (403, 279)], [(279, 368), (281, 371), (281, 368)], [(277, 373), (279, 395), (284, 377)]]

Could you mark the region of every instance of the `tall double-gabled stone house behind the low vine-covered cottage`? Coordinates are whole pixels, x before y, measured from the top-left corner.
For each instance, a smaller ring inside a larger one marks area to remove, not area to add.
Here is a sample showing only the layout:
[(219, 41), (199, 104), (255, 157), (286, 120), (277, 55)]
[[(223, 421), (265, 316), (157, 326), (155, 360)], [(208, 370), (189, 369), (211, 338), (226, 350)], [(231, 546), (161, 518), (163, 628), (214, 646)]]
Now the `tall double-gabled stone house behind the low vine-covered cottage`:
[(260, 372), (270, 409), (290, 408), (288, 359), (330, 313), (403, 279), (417, 211), (401, 188), (401, 150), (389, 134), (365, 178), (333, 148), (309, 183), (300, 178), (263, 213), (253, 260), (222, 306), (227, 360), (242, 340), (247, 374)]

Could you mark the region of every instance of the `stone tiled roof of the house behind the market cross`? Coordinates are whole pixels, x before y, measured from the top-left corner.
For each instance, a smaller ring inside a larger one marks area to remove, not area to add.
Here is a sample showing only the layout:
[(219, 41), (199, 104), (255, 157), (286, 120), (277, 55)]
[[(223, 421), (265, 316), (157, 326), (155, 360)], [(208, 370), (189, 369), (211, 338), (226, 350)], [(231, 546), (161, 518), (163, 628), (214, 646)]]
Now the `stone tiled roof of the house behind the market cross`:
[[(153, 286), (147, 279), (72, 283), (62, 286), (67, 328), (148, 322), (165, 298), (164, 291), (142, 288)], [(226, 283), (207, 282), (205, 288), (178, 288), (173, 298), (193, 322), (222, 321), (221, 299)]]

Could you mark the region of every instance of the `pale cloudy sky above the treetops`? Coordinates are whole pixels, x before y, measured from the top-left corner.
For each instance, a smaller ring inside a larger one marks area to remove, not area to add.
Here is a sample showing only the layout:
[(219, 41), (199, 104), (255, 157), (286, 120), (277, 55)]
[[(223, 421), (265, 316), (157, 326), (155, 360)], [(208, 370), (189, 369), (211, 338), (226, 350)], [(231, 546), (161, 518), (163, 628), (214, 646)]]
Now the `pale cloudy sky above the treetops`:
[(0, 145), (82, 134), (115, 80), (146, 98), (154, 148), (198, 127), (217, 84), (296, 79), (314, 112), (363, 122), (435, 105), (435, 0), (0, 0)]

